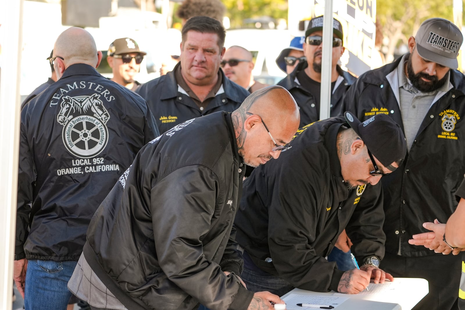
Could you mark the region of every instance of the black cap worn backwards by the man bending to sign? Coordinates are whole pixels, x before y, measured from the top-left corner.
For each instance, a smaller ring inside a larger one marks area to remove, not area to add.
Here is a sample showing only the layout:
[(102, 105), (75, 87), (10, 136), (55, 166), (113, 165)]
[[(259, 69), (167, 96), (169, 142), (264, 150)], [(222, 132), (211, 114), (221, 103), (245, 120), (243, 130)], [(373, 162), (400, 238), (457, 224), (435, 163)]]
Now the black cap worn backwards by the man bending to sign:
[(396, 170), (391, 164), (399, 160), (401, 163), (407, 153), (405, 136), (400, 126), (384, 113), (376, 114), (364, 122), (360, 122), (351, 112), (344, 112), (344, 117), (373, 156), (389, 170)]

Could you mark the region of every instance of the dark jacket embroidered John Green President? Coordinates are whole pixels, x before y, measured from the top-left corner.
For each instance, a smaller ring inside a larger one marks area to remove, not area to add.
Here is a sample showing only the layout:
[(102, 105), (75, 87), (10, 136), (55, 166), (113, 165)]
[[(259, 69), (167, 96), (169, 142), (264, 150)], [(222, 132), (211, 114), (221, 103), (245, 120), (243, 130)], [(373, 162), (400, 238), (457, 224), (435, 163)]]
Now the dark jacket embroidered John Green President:
[[(180, 63), (176, 66), (180, 66)], [(199, 106), (185, 93), (178, 90), (178, 83), (174, 77), (174, 71), (166, 73), (157, 79), (148, 81), (137, 89), (137, 93), (146, 99), (147, 106), (152, 111), (160, 132), (166, 132), (182, 122), (199, 116), (218, 111), (233, 112), (246, 99), (249, 92), (226, 78), (223, 70), (219, 69), (223, 76), (223, 85), (219, 93), (200, 111)]]

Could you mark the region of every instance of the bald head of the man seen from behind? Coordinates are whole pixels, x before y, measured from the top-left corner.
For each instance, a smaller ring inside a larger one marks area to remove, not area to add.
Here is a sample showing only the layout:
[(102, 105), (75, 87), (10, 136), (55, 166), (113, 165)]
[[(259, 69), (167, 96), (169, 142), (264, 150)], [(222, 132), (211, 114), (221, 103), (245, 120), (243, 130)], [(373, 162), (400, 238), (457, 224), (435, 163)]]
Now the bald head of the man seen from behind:
[(97, 67), (100, 62), (92, 35), (79, 27), (68, 28), (58, 36), (53, 56), (63, 58), (65, 69), (73, 64)]

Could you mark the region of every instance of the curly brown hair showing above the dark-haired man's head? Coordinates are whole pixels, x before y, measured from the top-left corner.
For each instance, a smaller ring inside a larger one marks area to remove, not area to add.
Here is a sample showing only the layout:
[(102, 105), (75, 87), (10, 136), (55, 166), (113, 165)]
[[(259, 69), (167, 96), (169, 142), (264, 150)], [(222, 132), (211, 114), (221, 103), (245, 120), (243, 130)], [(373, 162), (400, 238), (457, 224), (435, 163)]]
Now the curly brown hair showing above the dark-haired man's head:
[(208, 16), (223, 23), (226, 13), (225, 5), (219, 0), (184, 0), (176, 14), (188, 20), (194, 16)]

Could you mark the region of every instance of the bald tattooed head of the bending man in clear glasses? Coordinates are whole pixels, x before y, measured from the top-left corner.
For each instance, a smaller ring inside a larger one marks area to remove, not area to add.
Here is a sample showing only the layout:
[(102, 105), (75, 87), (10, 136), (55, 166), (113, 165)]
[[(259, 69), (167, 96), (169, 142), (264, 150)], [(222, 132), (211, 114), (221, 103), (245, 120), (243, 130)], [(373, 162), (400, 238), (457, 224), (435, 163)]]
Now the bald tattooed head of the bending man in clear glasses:
[(273, 85), (250, 94), (232, 119), (239, 154), (247, 165), (257, 166), (279, 157), (281, 151), (273, 149), (291, 142), (299, 129), (300, 114), (292, 95)]

